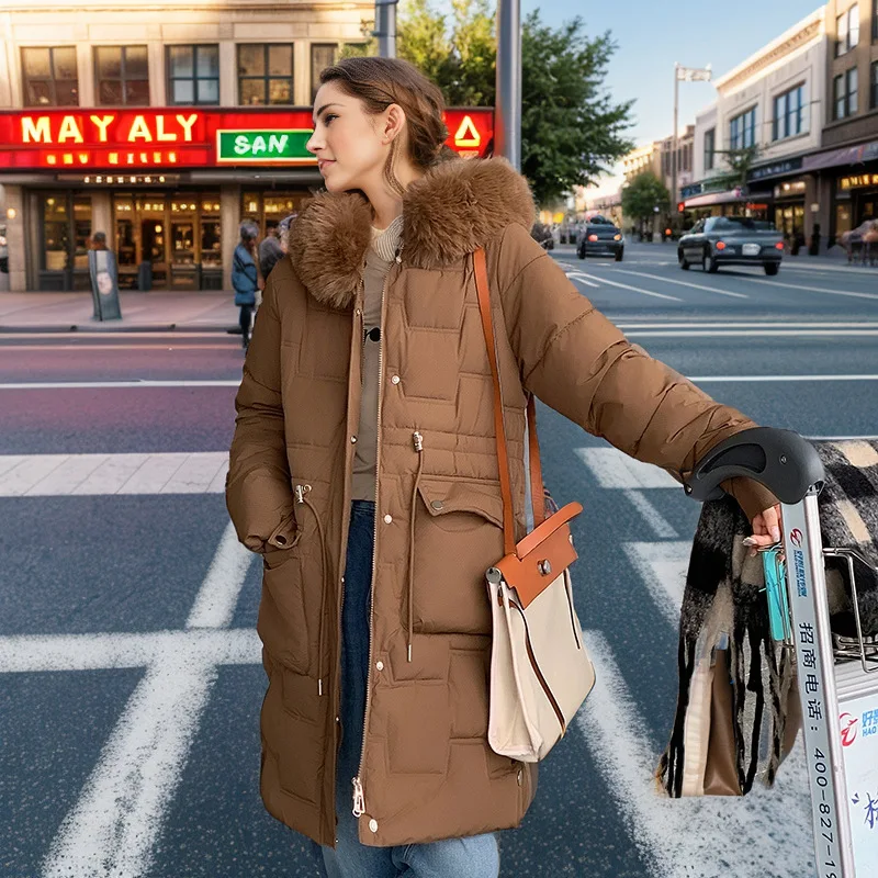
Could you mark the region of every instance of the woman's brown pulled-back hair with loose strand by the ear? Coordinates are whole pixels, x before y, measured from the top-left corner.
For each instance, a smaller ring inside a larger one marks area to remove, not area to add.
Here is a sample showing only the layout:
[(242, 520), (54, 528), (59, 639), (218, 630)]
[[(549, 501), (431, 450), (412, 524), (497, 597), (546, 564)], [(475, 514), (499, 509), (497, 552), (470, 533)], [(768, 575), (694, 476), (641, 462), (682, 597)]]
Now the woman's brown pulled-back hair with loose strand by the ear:
[[(342, 58), (320, 72), (320, 85), (336, 82), (346, 94), (359, 98), (369, 115), (383, 113), (392, 103), (405, 111), (408, 158), (420, 170), (438, 165), (457, 153), (444, 143), (448, 128), (442, 121), (446, 101), (439, 87), (409, 61), (401, 58)], [(399, 195), (405, 191), (393, 172), (399, 138), (391, 144), (384, 179)]]

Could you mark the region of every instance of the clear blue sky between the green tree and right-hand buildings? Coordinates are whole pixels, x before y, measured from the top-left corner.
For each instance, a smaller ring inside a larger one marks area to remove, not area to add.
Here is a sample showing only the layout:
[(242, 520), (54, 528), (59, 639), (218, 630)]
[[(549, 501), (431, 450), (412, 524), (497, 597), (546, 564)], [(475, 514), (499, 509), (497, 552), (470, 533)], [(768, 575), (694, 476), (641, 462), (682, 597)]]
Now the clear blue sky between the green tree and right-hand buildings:
[[(579, 14), (589, 36), (612, 32), (618, 49), (607, 87), (616, 99), (637, 99), (631, 136), (641, 144), (671, 134), (674, 61), (711, 64), (714, 76), (721, 76), (820, 5), (819, 0), (521, 0), (521, 15), (539, 9), (544, 23), (559, 26)], [(680, 127), (694, 123), (714, 95), (709, 82), (680, 82)]]

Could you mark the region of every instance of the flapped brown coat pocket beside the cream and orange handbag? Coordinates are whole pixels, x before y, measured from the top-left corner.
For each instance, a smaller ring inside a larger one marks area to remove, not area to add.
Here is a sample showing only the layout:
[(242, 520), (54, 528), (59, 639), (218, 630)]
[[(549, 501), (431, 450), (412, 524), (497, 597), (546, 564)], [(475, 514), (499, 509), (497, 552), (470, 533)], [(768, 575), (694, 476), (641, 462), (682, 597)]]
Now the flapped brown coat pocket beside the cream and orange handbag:
[(415, 631), (489, 634), (485, 571), (503, 556), (499, 486), (424, 477), (418, 492)]

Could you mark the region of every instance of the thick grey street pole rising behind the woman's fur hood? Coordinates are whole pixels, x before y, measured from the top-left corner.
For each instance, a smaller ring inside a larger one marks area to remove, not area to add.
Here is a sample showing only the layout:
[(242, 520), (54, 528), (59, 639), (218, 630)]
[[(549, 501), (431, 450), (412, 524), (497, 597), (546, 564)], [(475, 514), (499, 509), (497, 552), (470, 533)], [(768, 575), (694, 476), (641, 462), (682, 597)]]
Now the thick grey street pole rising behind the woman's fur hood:
[(521, 7), (520, 0), (497, 2), (497, 98), (494, 109), (494, 155), (521, 170)]

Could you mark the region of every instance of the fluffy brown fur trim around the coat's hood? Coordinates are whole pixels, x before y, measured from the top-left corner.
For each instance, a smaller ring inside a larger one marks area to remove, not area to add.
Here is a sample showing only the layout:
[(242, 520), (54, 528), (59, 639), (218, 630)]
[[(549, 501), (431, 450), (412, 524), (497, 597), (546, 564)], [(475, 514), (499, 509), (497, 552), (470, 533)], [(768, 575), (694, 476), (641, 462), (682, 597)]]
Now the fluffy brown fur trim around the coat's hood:
[[(403, 196), (405, 262), (436, 269), (485, 246), (506, 226), (533, 225), (527, 180), (506, 159), (453, 158), (431, 168)], [(308, 292), (344, 308), (353, 301), (372, 213), (360, 192), (322, 192), (290, 229), (290, 258)]]

